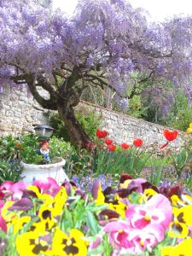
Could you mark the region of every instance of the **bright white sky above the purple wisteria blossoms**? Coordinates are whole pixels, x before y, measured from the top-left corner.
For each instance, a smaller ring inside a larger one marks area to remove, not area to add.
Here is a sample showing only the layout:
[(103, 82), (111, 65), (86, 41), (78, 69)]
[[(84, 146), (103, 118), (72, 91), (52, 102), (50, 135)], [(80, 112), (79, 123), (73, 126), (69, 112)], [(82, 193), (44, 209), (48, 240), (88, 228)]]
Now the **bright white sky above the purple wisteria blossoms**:
[[(133, 7), (147, 9), (150, 21), (162, 21), (173, 15), (192, 15), (192, 0), (130, 0)], [(54, 7), (60, 7), (72, 15), (78, 0), (53, 0)]]

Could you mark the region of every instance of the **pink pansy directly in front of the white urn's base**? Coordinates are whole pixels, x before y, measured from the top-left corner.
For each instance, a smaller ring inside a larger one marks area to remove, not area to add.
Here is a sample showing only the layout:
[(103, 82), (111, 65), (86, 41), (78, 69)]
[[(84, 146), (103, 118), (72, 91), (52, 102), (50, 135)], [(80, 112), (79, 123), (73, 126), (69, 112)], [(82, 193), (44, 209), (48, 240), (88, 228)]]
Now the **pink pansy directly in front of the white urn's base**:
[(37, 186), (42, 194), (55, 196), (61, 187), (56, 183), (52, 177), (47, 177), (44, 180), (35, 180), (33, 185)]

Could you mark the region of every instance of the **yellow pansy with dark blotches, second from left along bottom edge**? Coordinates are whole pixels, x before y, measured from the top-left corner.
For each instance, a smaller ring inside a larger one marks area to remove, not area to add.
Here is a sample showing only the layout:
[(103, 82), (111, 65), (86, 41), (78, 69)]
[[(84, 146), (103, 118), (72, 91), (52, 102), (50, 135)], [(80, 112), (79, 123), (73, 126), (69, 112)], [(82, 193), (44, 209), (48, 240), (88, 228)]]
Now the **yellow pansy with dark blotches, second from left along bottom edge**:
[(87, 255), (87, 242), (84, 240), (84, 234), (76, 229), (65, 233), (61, 230), (55, 230), (52, 243), (53, 255)]

